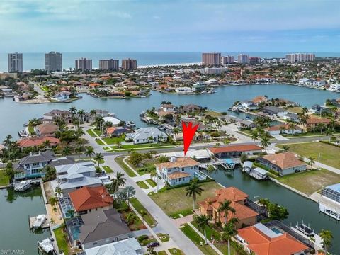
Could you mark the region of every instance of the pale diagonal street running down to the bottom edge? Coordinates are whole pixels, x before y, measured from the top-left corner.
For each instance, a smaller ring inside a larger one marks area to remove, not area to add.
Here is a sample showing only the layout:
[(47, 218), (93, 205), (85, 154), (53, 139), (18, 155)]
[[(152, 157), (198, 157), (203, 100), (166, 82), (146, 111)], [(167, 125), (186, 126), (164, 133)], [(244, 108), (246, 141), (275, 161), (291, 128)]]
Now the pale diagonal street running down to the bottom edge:
[[(111, 166), (113, 171), (119, 171), (125, 173), (123, 169), (115, 162), (116, 156), (106, 156), (105, 162), (108, 166)], [(109, 174), (113, 177), (115, 174)], [(166, 234), (169, 234), (171, 239), (179, 246), (185, 254), (198, 254), (203, 255), (202, 251), (198, 249), (198, 247), (191, 242), (188, 237), (186, 237), (180, 229), (174, 225), (174, 222), (163, 212), (159, 206), (154, 203), (154, 201), (147, 196), (147, 194), (142, 191), (142, 189), (137, 186), (135, 181), (133, 181), (130, 176), (125, 174), (125, 178), (127, 179), (126, 185), (132, 186), (136, 189), (136, 198), (140, 200), (140, 203), (145, 206), (145, 208), (151, 213), (154, 219), (157, 220), (159, 227), (165, 230)], [(184, 195), (183, 195), (184, 196)], [(181, 199), (181, 198), (179, 198)]]

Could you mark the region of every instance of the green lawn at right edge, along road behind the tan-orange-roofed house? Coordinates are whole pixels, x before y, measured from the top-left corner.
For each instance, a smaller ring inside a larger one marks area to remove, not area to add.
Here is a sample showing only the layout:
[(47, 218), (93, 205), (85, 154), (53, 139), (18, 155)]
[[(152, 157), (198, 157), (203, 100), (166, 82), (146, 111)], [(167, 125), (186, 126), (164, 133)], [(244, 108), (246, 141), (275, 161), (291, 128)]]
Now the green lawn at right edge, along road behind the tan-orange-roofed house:
[[(283, 145), (277, 147), (282, 148)], [(340, 169), (340, 148), (322, 142), (304, 142), (288, 145), (290, 152), (295, 152), (304, 157), (314, 157), (317, 161)]]

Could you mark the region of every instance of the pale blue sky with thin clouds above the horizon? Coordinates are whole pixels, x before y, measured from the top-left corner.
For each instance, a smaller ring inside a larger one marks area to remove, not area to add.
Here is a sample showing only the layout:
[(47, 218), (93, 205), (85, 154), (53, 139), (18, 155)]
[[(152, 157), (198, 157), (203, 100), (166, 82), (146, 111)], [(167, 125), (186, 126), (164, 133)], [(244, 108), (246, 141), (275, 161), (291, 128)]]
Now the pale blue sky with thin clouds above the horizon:
[(339, 0), (1, 0), (0, 52), (340, 52)]

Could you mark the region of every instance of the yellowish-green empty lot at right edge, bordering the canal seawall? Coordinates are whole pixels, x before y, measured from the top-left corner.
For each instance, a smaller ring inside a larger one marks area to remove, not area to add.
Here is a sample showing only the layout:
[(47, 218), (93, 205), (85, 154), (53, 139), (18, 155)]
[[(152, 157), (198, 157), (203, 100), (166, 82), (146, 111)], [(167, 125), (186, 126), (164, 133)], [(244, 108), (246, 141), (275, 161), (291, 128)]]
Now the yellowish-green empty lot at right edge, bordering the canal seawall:
[(340, 183), (340, 174), (326, 169), (310, 170), (278, 177), (277, 180), (307, 195), (311, 195), (324, 186)]

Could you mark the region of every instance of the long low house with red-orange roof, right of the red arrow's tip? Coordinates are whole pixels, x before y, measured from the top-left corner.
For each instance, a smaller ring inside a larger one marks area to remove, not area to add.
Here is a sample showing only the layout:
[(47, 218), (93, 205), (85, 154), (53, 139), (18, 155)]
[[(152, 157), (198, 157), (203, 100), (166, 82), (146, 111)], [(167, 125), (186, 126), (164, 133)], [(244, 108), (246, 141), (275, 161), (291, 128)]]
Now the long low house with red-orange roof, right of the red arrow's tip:
[(211, 154), (219, 159), (241, 157), (242, 154), (252, 156), (262, 152), (257, 145), (226, 145), (222, 147), (209, 148)]

